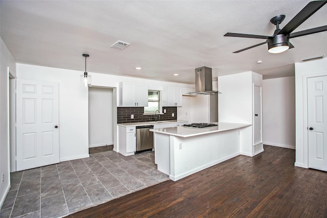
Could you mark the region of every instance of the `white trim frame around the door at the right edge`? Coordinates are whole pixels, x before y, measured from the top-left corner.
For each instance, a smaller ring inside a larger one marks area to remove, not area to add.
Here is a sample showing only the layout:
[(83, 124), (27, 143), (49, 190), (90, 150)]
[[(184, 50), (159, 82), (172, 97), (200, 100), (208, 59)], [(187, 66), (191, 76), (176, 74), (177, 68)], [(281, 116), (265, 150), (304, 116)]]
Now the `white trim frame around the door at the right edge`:
[(309, 143), (308, 143), (308, 79), (327, 76), (327, 72), (320, 74), (303, 75), (303, 167), (309, 168)]

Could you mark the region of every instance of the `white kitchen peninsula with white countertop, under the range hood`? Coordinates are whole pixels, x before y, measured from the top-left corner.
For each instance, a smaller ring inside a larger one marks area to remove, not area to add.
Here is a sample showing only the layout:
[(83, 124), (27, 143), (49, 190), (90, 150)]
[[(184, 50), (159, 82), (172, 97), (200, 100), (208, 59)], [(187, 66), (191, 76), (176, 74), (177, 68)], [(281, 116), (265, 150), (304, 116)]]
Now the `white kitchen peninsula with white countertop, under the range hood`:
[(250, 124), (216, 123), (206, 128), (171, 127), (154, 132), (155, 163), (177, 181), (241, 154), (241, 131)]

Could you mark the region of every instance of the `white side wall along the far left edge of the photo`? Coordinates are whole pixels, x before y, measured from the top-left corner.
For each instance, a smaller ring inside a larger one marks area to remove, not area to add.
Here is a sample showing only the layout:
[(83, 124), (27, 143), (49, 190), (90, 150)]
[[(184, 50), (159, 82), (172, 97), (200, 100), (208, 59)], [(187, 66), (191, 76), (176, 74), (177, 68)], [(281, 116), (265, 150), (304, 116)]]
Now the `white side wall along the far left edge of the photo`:
[(4, 41), (0, 41), (0, 178), (4, 174), (4, 182), (0, 182), (0, 207), (10, 187), (10, 149), (9, 149), (9, 75), (16, 76), (15, 60)]

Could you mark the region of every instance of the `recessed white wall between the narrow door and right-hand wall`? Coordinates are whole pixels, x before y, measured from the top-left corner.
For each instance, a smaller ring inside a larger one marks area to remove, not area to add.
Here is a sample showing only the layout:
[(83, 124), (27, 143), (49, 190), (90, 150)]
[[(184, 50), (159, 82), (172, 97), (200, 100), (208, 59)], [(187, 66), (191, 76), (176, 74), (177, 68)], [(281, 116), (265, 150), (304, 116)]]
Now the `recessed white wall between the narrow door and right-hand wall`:
[(263, 142), (295, 149), (295, 77), (263, 80)]

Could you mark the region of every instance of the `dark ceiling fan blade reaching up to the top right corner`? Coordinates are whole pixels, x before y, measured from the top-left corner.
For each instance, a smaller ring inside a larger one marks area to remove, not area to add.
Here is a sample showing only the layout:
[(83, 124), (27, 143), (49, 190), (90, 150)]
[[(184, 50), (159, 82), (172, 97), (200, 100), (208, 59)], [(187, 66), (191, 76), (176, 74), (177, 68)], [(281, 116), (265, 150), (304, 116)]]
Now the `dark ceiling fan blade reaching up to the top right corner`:
[(291, 19), (285, 25), (285, 27), (279, 31), (278, 34), (288, 35), (293, 32), (298, 26), (301, 25), (302, 22), (306, 21), (311, 15), (313, 15), (316, 11), (318, 11), (322, 6), (324, 6), (327, 1), (313, 1), (310, 2), (306, 7), (304, 7), (298, 14)]

